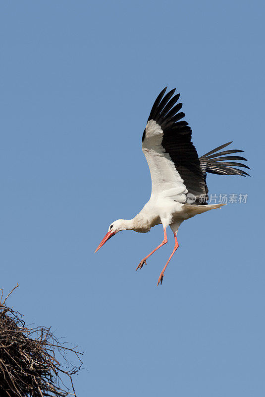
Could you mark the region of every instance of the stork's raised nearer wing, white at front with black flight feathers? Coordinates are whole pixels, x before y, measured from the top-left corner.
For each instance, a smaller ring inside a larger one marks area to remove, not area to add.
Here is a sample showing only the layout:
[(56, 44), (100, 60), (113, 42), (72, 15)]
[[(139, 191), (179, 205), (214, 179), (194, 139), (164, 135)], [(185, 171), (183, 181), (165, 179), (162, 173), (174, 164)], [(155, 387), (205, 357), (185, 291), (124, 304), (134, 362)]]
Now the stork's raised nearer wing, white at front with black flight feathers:
[[(180, 94), (175, 89), (157, 97), (142, 138), (152, 179), (152, 196), (179, 202), (205, 203), (207, 185), (197, 151), (191, 142), (191, 129), (179, 112)], [(202, 199), (204, 197), (204, 199)]]

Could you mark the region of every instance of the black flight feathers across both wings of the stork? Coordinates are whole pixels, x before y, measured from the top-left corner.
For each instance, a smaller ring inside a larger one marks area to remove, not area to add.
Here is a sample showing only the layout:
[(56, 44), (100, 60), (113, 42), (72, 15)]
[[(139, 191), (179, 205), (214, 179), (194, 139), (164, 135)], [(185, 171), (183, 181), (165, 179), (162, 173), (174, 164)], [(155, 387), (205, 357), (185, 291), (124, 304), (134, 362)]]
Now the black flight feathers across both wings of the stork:
[[(183, 179), (188, 193), (196, 196), (196, 201), (194, 203), (207, 203), (207, 173), (248, 176), (249, 174), (245, 171), (235, 168), (244, 167), (249, 169), (247, 165), (231, 161), (247, 160), (241, 156), (230, 156), (230, 154), (240, 153), (243, 152), (243, 150), (232, 149), (219, 151), (230, 145), (232, 141), (216, 147), (199, 158), (191, 141), (191, 128), (186, 121), (179, 121), (185, 117), (185, 113), (179, 112), (182, 103), (175, 105), (180, 94), (173, 96), (175, 93), (175, 89), (173, 89), (164, 96), (166, 89), (167, 87), (165, 87), (157, 97), (148, 121), (154, 120), (163, 131), (161, 145), (173, 161), (177, 172)], [(144, 141), (145, 136), (146, 130), (143, 133), (142, 141)]]

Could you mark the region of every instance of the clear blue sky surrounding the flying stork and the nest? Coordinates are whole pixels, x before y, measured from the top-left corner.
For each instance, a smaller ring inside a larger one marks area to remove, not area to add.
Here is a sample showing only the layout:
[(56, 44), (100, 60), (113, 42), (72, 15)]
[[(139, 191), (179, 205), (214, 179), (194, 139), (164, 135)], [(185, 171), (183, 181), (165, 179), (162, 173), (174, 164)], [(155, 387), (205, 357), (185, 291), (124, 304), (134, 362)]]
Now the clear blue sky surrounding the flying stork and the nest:
[[(79, 396), (265, 395), (264, 2), (2, 1), (1, 277), (27, 323), (84, 351)], [(119, 233), (148, 201), (141, 136), (168, 85), (200, 155), (233, 140), (248, 194), (184, 222)], [(87, 370), (86, 370), (87, 369)]]

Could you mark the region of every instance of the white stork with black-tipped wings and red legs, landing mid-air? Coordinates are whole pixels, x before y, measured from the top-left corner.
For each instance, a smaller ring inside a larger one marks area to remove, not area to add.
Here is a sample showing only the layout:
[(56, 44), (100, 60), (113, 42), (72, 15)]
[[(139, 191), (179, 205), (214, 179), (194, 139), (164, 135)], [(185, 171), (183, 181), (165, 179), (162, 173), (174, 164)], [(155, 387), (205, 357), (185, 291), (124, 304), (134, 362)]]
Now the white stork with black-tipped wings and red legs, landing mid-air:
[(182, 103), (176, 104), (180, 94), (174, 95), (175, 89), (173, 89), (164, 96), (166, 89), (167, 87), (160, 92), (152, 107), (142, 138), (142, 149), (152, 179), (150, 200), (133, 219), (118, 219), (112, 222), (95, 251), (97, 252), (110, 237), (121, 230), (130, 229), (146, 233), (151, 227), (162, 224), (163, 241), (140, 262), (136, 268), (138, 270), (146, 264), (146, 260), (155, 251), (167, 243), (166, 228), (170, 226), (174, 234), (175, 246), (159, 275), (158, 285), (162, 284), (165, 268), (179, 246), (177, 231), (180, 224), (197, 214), (225, 205), (207, 204), (207, 172), (218, 175), (249, 175), (235, 168), (235, 166), (249, 168), (248, 166), (230, 161), (246, 160), (244, 157), (226, 156), (243, 150), (219, 152), (232, 142), (218, 146), (199, 158), (191, 141), (192, 130), (186, 121), (179, 121), (185, 116), (183, 112), (179, 112)]

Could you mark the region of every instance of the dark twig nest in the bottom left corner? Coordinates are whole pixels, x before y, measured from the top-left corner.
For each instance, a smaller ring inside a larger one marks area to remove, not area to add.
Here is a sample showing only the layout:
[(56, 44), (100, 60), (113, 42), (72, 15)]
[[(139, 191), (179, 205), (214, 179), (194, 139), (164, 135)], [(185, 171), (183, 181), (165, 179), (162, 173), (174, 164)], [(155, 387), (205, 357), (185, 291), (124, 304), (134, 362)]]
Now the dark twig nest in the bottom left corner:
[[(0, 298), (0, 396), (76, 396), (71, 376), (82, 365), (82, 353), (66, 347), (50, 328), (27, 328), (23, 316), (6, 306), (13, 290), (4, 300), (3, 293)], [(78, 359), (78, 365), (68, 361), (69, 354)]]

